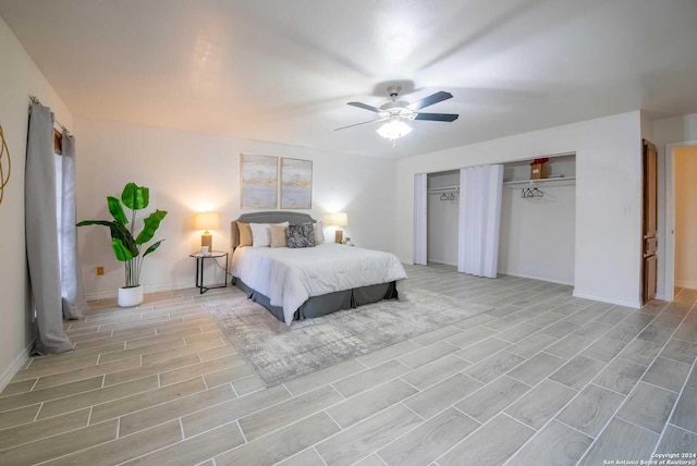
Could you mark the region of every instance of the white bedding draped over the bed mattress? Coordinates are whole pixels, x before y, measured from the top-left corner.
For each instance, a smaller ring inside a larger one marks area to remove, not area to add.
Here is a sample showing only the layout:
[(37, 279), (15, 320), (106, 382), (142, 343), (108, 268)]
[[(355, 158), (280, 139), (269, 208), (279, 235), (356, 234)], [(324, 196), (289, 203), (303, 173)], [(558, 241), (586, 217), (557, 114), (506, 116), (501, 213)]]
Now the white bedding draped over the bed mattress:
[(310, 296), (406, 278), (393, 254), (323, 243), (316, 247), (239, 247), (232, 274), (283, 307), (285, 323)]

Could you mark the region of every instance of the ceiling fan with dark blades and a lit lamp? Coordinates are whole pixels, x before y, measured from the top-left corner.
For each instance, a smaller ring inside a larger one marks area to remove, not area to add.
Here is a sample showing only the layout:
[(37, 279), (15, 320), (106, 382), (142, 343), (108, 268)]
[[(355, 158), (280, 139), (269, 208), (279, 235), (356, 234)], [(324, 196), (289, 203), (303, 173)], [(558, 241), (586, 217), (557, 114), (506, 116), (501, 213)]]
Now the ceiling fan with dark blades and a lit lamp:
[(405, 102), (404, 100), (398, 100), (398, 96), (402, 88), (400, 86), (388, 87), (390, 100), (387, 103), (380, 106), (380, 108), (369, 106), (363, 102), (348, 102), (350, 106), (358, 107), (359, 109), (369, 110), (376, 112), (378, 118), (370, 121), (364, 121), (363, 123), (351, 124), (348, 126), (338, 127), (334, 131), (345, 130), (347, 127), (359, 126), (362, 124), (376, 123), (380, 121), (387, 121), (386, 124), (380, 126), (377, 132), (386, 139), (392, 140), (392, 147), (396, 147), (396, 139), (402, 136), (406, 136), (411, 133), (412, 128), (404, 123), (403, 120), (427, 120), (427, 121), (442, 121), (453, 122), (457, 120), (458, 114), (454, 113), (423, 113), (418, 110), (432, 106), (443, 100), (448, 100), (453, 97), (452, 94), (440, 90), (428, 97), (424, 97), (413, 103)]

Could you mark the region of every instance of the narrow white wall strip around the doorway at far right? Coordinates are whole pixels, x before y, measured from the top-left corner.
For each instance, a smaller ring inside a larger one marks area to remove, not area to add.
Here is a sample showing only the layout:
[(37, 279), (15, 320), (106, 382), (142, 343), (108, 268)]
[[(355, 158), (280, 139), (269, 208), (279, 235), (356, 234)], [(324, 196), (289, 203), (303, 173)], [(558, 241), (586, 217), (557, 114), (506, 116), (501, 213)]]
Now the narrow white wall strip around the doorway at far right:
[(697, 142), (697, 113), (683, 116), (674, 116), (669, 119), (655, 120), (652, 125), (651, 142), (656, 145), (658, 151), (658, 290), (657, 297), (667, 295), (667, 279), (672, 277), (672, 270), (667, 267), (673, 267), (673, 261), (668, 260), (671, 254), (667, 248), (668, 241), (673, 228), (670, 212), (667, 211), (667, 204), (671, 203), (671, 196), (668, 191), (673, 188), (672, 184), (672, 160), (671, 155), (667, 154), (667, 145), (685, 142)]

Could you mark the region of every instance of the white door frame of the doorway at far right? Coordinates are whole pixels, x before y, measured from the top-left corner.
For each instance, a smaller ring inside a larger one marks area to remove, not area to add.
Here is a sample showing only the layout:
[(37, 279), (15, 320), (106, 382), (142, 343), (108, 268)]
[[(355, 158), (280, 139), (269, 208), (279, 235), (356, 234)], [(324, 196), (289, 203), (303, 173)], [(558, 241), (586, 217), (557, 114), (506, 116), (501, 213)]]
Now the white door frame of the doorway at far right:
[(675, 149), (697, 147), (697, 139), (665, 145), (665, 268), (663, 299), (675, 298)]

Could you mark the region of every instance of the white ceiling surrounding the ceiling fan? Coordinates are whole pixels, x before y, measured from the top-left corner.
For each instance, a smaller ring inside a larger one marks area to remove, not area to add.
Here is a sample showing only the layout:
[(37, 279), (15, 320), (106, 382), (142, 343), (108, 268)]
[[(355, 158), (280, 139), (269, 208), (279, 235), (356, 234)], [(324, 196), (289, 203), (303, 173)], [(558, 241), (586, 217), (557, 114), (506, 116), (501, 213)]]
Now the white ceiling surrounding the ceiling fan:
[[(646, 110), (697, 112), (695, 0), (0, 0), (75, 115), (406, 157)], [(367, 124), (401, 84), (398, 147)]]

